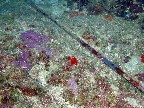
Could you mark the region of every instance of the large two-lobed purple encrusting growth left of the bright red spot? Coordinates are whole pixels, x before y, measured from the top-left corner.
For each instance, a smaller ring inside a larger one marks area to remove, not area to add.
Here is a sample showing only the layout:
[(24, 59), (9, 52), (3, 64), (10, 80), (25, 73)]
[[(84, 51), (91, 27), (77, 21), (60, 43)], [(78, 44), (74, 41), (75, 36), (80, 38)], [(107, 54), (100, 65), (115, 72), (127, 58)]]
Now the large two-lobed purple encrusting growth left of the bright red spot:
[[(47, 56), (51, 56), (51, 49), (47, 47), (47, 43), (50, 42), (50, 38), (32, 30), (26, 31), (20, 35), (22, 40), (21, 44), (27, 48), (35, 48), (38, 51), (45, 51)], [(21, 67), (25, 70), (31, 69), (31, 63), (28, 61), (30, 56), (29, 52), (22, 50), (20, 52), (20, 58), (15, 62), (17, 67)]]

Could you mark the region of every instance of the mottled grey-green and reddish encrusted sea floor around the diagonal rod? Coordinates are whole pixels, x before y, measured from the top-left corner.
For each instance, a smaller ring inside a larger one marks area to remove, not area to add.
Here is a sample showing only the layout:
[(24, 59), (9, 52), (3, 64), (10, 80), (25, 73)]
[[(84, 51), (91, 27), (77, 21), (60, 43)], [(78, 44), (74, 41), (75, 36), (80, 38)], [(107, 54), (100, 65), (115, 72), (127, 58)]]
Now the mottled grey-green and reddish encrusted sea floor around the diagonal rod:
[[(0, 13), (0, 108), (144, 108), (142, 92), (75, 40), (83, 39), (144, 87), (139, 20), (71, 11), (56, 21), (72, 37), (25, 2), (15, 2), (3, 4)], [(20, 36), (29, 30), (51, 38), (44, 44), (50, 56), (23, 44)], [(30, 53), (28, 70), (15, 65), (22, 51)]]

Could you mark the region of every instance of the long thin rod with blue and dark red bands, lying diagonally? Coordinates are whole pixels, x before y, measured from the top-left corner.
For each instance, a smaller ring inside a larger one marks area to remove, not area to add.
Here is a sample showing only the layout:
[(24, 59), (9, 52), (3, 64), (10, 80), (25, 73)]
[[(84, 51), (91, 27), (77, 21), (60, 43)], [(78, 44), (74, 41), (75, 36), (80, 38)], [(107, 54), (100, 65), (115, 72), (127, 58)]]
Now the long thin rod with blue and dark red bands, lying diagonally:
[(85, 41), (80, 39), (75, 33), (72, 33), (71, 30), (68, 30), (67, 27), (59, 24), (56, 20), (50, 17), (49, 14), (38, 8), (33, 1), (31, 0), (25, 0), (26, 3), (28, 3), (32, 8), (34, 8), (37, 12), (44, 15), (48, 19), (50, 19), (53, 23), (55, 23), (58, 27), (60, 27), (62, 30), (64, 30), (66, 33), (68, 33), (72, 38), (76, 39), (83, 47), (87, 48), (91, 53), (93, 53), (96, 57), (101, 59), (107, 66), (109, 66), (111, 69), (116, 71), (119, 75), (124, 77), (126, 80), (128, 80), (132, 85), (134, 85), (136, 88), (138, 88), (141, 92), (144, 93), (144, 87), (138, 83), (137, 81), (133, 80), (131, 77), (129, 77), (124, 71), (122, 71), (119, 67), (117, 67), (115, 64), (113, 64), (110, 60), (103, 57), (99, 52), (97, 52), (94, 48), (92, 48), (89, 44), (87, 44)]

